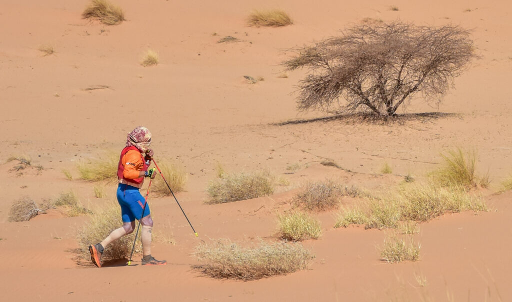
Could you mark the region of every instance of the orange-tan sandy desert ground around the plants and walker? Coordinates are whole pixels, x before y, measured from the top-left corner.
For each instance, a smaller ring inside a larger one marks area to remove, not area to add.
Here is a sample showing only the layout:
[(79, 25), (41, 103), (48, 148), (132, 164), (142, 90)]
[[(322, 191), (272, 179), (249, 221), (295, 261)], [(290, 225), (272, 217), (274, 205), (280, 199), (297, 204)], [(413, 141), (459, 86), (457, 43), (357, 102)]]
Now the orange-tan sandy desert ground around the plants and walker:
[[(512, 173), (509, 2), (114, 3), (126, 20), (106, 26), (81, 17), (85, 0), (2, 1), (2, 300), (512, 300), (512, 192), (500, 192), (500, 183)], [(293, 25), (247, 26), (252, 10), (275, 8), (285, 10)], [(400, 110), (453, 114), (387, 124), (333, 119), (278, 125), (327, 115), (297, 111), (296, 85), (306, 71), (280, 76), (287, 50), (336, 35), (365, 18), (473, 30), (480, 59), (456, 78), (443, 102), (425, 104), (418, 95)], [(217, 43), (225, 36), (239, 41)], [(53, 45), (55, 53), (45, 56), (39, 51), (43, 44)], [(148, 49), (158, 52), (158, 65), (140, 64)], [(264, 81), (251, 84), (244, 76)], [(101, 89), (87, 90), (94, 87)], [(194, 236), (172, 196), (150, 194), (155, 233), (171, 239), (154, 240), (152, 252), (168, 265), (142, 267), (140, 254), (136, 265), (120, 260), (101, 269), (78, 259), (77, 231), (89, 215), (65, 217), (49, 210), (30, 221), (8, 221), (12, 203), (23, 196), (42, 202), (71, 190), (93, 212), (115, 200), (115, 182), (104, 183), (105, 196), (96, 198), (96, 183), (81, 180), (77, 165), (119, 152), (126, 132), (141, 125), (152, 131), (155, 158), (172, 160), (186, 171), (185, 190), (176, 197), (199, 234)], [(478, 189), (489, 211), (420, 223), (414, 235), (421, 244), (419, 261), (382, 261), (379, 247), (389, 230), (334, 228), (334, 210), (313, 214), (323, 234), (302, 242), (315, 255), (305, 270), (244, 282), (193, 269), (201, 242), (278, 240), (276, 213), (290, 208), (307, 181), (334, 178), (383, 190), (404, 175), (426, 177), (439, 166), (441, 152), (455, 147), (478, 151), (477, 172), (492, 180), (489, 188)], [(8, 159), (20, 154), (41, 169), (13, 171), (16, 162)], [(326, 158), (344, 170), (321, 165)], [(206, 204), (217, 163), (229, 172), (267, 170), (289, 184), (266, 197)], [(385, 164), (391, 174), (380, 173)], [(289, 173), (290, 165), (300, 168)]]

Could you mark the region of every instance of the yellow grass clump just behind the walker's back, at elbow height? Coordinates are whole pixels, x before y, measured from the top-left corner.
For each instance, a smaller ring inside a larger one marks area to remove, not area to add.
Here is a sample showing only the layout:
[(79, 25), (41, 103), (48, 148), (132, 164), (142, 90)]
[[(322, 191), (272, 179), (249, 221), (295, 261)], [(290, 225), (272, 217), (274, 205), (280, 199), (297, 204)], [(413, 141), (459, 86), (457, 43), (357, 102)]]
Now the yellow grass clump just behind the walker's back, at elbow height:
[(119, 155), (116, 153), (105, 154), (99, 159), (77, 165), (80, 178), (89, 181), (115, 180), (117, 179), (117, 165)]

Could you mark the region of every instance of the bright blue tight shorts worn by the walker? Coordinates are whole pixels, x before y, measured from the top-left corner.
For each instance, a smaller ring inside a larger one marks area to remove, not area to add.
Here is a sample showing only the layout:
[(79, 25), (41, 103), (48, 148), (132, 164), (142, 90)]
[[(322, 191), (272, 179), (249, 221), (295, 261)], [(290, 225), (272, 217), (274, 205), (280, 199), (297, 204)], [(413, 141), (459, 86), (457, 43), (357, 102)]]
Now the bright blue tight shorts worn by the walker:
[(142, 217), (150, 215), (149, 204), (146, 204), (144, 215), (142, 215), (144, 197), (142, 197), (138, 188), (124, 183), (119, 183), (116, 195), (117, 202), (119, 202), (119, 205), (121, 206), (121, 218), (123, 222), (132, 222), (135, 219), (139, 220)]

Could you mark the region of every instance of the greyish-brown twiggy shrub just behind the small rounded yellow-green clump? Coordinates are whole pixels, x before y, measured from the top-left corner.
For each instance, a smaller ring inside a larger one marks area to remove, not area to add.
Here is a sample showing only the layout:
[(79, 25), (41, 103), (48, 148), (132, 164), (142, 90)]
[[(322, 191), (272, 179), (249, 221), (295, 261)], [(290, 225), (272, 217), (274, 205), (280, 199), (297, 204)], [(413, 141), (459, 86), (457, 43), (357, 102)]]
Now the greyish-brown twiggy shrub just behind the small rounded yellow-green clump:
[(326, 179), (307, 183), (303, 192), (295, 195), (293, 200), (308, 211), (327, 211), (337, 207), (343, 196), (355, 197), (358, 194), (355, 187), (349, 188)]

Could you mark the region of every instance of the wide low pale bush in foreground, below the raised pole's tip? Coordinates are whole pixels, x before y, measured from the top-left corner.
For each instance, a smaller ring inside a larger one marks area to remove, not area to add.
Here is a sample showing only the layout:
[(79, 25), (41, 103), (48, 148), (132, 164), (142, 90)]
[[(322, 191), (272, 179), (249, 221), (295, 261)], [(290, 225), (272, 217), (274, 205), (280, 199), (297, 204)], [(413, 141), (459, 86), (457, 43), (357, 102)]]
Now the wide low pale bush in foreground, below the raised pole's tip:
[(200, 244), (195, 252), (205, 264), (195, 266), (214, 278), (258, 280), (306, 269), (314, 255), (300, 243), (266, 243), (241, 247), (229, 240)]

